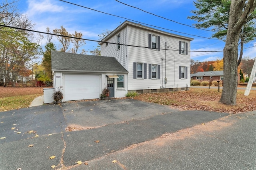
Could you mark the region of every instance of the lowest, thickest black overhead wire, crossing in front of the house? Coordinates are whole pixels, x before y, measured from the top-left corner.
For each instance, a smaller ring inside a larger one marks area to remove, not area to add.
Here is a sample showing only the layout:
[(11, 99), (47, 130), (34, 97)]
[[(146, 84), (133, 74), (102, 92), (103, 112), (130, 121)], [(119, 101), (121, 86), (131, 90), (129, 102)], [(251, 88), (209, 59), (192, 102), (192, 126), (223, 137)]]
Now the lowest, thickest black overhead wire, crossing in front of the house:
[[(71, 37), (71, 36), (66, 36), (66, 35), (59, 35), (59, 34), (54, 34), (54, 33), (47, 33), (47, 32), (42, 32), (42, 31), (35, 31), (31, 29), (24, 29), (24, 28), (18, 28), (18, 27), (12, 27), (8, 25), (1, 25), (1, 27), (8, 27), (8, 28), (13, 28), (13, 29), (20, 29), (23, 31), (32, 31), (36, 33), (42, 33), (42, 34), (48, 34), (48, 35), (55, 35), (55, 36), (60, 36), (60, 37), (67, 37), (67, 38), (73, 38), (73, 39), (81, 39), (85, 41), (94, 41), (94, 42), (100, 42), (100, 43), (108, 43), (108, 44), (115, 44), (115, 45), (124, 45), (124, 46), (129, 46), (129, 47), (139, 47), (139, 48), (148, 48), (148, 47), (143, 47), (143, 46), (138, 46), (138, 45), (127, 45), (127, 44), (120, 44), (120, 43), (111, 43), (108, 41), (99, 41), (99, 40), (93, 40), (93, 39), (84, 39), (84, 38), (78, 38), (78, 37)], [(2, 30), (0, 30), (2, 31)], [(168, 50), (168, 51), (179, 51), (178, 49), (161, 49), (161, 50)], [(185, 50), (186, 51), (186, 50)], [(188, 51), (188, 52), (222, 52), (222, 51)]]

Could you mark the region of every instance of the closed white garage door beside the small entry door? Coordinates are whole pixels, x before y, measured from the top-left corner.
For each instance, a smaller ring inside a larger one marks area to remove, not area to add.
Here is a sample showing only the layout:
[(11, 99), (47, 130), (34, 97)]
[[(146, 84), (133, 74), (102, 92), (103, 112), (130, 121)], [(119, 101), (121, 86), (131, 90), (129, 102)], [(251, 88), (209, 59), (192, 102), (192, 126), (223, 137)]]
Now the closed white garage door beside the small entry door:
[(65, 100), (96, 99), (100, 97), (98, 75), (64, 75)]

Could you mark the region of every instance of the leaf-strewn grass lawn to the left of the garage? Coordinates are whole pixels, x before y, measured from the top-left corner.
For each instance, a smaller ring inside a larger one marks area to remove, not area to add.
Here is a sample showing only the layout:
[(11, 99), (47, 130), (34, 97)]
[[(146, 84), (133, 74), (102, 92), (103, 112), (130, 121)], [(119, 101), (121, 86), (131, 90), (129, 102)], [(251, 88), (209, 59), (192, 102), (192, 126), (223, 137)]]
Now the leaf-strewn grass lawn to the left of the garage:
[(0, 111), (28, 107), (34, 98), (44, 94), (45, 87), (13, 88), (0, 86)]

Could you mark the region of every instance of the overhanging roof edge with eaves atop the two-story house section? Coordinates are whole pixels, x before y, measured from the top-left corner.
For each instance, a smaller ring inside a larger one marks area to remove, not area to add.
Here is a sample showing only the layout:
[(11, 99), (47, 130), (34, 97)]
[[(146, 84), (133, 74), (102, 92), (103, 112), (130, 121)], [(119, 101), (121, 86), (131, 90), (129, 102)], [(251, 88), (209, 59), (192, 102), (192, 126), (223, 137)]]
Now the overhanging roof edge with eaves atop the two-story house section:
[(132, 25), (134, 27), (138, 27), (138, 28), (142, 28), (142, 29), (146, 29), (146, 30), (149, 30), (149, 31), (154, 31), (154, 32), (158, 32), (158, 33), (161, 33), (161, 34), (165, 34), (165, 35), (168, 35), (168, 36), (172, 36), (172, 37), (178, 37), (180, 39), (185, 39), (185, 40), (188, 40), (188, 41), (192, 41), (193, 38), (190, 38), (190, 37), (185, 37), (185, 36), (182, 36), (182, 35), (177, 35), (177, 34), (173, 34), (173, 33), (168, 33), (166, 31), (161, 31), (159, 29), (155, 29), (155, 28), (152, 28), (152, 27), (147, 27), (145, 25), (141, 25), (139, 23), (134, 23), (134, 22), (131, 22), (131, 21), (124, 21), (121, 25), (119, 25), (116, 29), (114, 29), (114, 31), (112, 31), (110, 34), (108, 34), (104, 39), (102, 39), (101, 41), (102, 42), (99, 42), (98, 44), (102, 44), (103, 42), (107, 42), (108, 39), (114, 35), (116, 35), (116, 33), (118, 33), (121, 29), (123, 29), (124, 27), (126, 27), (127, 25)]

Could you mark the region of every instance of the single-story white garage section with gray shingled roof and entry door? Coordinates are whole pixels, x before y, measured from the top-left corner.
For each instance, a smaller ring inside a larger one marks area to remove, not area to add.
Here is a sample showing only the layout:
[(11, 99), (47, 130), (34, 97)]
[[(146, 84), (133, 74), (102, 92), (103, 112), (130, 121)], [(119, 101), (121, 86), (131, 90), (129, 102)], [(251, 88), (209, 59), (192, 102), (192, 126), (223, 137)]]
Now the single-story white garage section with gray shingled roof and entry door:
[(128, 71), (114, 58), (52, 51), (54, 88), (62, 86), (64, 101), (100, 98), (110, 89), (110, 98), (124, 97)]

